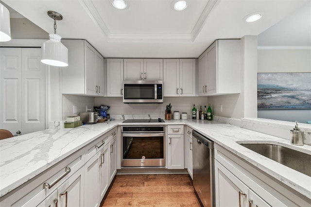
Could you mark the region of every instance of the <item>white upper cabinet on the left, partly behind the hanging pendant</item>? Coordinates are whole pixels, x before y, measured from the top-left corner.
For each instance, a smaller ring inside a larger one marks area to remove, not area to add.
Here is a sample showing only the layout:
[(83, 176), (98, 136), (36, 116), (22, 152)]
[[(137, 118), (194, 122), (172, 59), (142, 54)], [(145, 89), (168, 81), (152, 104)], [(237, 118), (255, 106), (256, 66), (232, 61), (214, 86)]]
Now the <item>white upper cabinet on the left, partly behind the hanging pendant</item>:
[(104, 58), (86, 40), (62, 40), (69, 66), (62, 68), (62, 93), (104, 96)]

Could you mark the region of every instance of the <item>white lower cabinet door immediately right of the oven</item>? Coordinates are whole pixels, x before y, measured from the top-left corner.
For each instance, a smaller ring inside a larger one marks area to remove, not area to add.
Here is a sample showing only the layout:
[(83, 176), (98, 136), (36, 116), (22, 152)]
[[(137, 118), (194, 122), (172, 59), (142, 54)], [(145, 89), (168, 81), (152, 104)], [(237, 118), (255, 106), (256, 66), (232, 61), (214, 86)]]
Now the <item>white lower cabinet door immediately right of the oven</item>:
[(168, 169), (184, 169), (184, 135), (168, 135)]

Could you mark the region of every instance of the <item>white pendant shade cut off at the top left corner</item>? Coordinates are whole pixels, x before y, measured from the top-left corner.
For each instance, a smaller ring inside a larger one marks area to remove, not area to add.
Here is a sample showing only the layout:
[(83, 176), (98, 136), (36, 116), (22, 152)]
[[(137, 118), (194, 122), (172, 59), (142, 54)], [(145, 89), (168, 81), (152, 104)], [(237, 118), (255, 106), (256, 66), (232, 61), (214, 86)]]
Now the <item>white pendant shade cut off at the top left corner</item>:
[(0, 42), (11, 40), (10, 12), (0, 3)]

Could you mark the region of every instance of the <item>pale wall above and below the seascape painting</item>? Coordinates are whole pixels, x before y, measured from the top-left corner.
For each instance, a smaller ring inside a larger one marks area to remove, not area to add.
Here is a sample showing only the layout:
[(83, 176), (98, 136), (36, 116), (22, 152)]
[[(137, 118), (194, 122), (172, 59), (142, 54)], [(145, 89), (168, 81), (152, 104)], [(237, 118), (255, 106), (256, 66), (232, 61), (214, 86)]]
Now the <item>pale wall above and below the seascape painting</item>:
[[(258, 72), (311, 72), (311, 50), (258, 50)], [(310, 83), (309, 83), (310, 84)], [(260, 109), (259, 118), (311, 121), (311, 109)]]

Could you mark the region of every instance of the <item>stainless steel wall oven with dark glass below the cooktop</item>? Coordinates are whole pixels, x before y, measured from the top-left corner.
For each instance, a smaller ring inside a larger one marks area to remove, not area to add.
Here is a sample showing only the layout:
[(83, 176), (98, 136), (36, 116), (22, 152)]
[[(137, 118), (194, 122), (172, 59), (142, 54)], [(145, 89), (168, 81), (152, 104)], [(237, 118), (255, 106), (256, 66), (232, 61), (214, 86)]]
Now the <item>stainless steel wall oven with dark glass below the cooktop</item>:
[(164, 126), (122, 126), (121, 167), (165, 167)]

